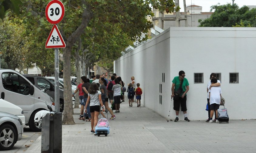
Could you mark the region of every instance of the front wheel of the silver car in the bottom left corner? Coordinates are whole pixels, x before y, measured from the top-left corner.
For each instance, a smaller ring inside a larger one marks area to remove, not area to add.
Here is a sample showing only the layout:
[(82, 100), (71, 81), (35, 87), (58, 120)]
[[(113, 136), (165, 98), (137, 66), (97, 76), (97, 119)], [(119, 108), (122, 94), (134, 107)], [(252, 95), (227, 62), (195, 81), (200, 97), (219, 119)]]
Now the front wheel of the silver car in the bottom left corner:
[(10, 124), (4, 124), (0, 127), (0, 149), (10, 150), (17, 142), (18, 135), (14, 127)]

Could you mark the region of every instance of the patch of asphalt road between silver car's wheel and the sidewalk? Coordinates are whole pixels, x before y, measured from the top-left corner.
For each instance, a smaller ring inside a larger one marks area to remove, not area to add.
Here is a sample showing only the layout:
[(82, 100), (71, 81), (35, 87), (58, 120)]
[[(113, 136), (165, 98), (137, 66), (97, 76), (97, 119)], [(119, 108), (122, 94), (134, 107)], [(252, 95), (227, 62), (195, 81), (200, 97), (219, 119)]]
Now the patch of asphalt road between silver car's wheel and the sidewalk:
[(22, 139), (17, 141), (11, 150), (5, 153), (24, 153), (30, 145), (41, 135), (41, 132), (32, 132), (29, 127), (24, 128)]

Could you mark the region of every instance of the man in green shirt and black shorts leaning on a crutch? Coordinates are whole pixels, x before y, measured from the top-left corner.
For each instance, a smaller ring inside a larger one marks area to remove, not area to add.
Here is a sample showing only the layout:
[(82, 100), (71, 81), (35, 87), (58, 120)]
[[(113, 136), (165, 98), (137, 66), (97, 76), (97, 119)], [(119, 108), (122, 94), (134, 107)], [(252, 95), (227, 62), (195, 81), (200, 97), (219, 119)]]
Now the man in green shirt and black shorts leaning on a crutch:
[(172, 80), (172, 95), (171, 97), (174, 97), (174, 91), (179, 90), (180, 88), (180, 83), (183, 80), (183, 83), (181, 85), (181, 93), (178, 99), (173, 99), (173, 109), (176, 111), (176, 118), (174, 122), (179, 121), (179, 112), (180, 112), (180, 106), (181, 106), (181, 111), (184, 113), (184, 120), (189, 122), (190, 120), (187, 118), (187, 92), (189, 90), (189, 83), (187, 81), (187, 78), (185, 78), (185, 72), (180, 71), (179, 76), (174, 77)]

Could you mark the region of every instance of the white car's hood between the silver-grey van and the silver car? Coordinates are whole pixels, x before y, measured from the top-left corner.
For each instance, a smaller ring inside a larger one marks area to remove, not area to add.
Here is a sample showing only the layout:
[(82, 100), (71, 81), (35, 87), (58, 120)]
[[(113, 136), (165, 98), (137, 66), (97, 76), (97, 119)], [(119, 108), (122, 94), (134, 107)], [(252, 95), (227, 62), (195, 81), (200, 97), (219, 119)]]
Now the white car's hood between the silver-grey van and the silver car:
[(0, 112), (7, 112), (7, 113), (18, 116), (22, 121), (23, 128), (26, 127), (24, 112), (19, 106), (9, 103), (4, 99), (0, 99)]

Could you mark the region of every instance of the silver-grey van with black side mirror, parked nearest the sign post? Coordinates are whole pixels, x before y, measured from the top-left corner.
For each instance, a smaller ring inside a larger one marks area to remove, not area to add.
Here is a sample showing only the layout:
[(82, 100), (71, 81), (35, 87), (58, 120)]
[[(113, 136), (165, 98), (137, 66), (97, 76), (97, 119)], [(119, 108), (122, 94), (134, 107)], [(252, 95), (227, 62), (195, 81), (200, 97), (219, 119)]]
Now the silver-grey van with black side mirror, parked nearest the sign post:
[(0, 69), (0, 75), (1, 98), (19, 106), (24, 111), (26, 125), (32, 131), (40, 132), (41, 129), (34, 122), (35, 113), (48, 110), (46, 104), (54, 110), (54, 100), (15, 70)]

